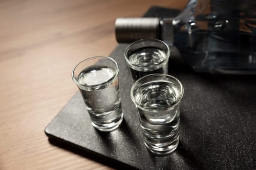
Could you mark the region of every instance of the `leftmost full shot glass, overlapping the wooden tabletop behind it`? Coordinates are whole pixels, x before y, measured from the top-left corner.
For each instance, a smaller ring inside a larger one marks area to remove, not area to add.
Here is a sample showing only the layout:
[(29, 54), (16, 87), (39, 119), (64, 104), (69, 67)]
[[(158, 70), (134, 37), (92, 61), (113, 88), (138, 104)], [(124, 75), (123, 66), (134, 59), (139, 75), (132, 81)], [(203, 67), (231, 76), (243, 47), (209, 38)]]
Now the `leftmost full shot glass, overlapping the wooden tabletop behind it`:
[(91, 124), (100, 131), (112, 131), (123, 120), (118, 71), (115, 60), (102, 56), (85, 59), (72, 71)]

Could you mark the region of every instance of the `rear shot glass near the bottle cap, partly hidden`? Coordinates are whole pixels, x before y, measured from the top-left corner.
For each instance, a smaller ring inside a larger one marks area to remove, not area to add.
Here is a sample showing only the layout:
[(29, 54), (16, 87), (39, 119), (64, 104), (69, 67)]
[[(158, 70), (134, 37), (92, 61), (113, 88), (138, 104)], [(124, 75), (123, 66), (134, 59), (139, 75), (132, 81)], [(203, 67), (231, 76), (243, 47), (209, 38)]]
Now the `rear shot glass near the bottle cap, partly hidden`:
[(135, 82), (148, 74), (168, 74), (169, 46), (158, 39), (141, 39), (125, 51), (126, 63)]

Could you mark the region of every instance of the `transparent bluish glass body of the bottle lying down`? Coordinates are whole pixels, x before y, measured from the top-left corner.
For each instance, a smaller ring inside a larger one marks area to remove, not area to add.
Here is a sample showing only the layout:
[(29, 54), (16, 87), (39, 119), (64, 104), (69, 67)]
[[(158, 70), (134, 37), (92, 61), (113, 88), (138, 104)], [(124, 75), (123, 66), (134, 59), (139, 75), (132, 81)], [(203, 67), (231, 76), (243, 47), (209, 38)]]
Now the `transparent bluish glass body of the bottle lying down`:
[(173, 44), (196, 71), (256, 74), (256, 1), (190, 0)]

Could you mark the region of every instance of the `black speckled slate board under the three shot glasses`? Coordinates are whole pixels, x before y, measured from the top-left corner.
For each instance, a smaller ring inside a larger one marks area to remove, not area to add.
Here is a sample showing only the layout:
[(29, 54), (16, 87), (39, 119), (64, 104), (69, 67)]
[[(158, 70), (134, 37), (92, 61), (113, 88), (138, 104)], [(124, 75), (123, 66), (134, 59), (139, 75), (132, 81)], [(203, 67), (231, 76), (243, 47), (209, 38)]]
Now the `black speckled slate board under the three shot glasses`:
[[(152, 7), (145, 16), (176, 14), (177, 11)], [(76, 93), (45, 128), (53, 144), (65, 143), (72, 146), (68, 148), (72, 152), (100, 162), (105, 160), (118, 169), (256, 169), (256, 76), (194, 73), (171, 47), (169, 72), (184, 85), (180, 144), (170, 155), (156, 156), (144, 146), (136, 109), (130, 100), (132, 80), (123, 55), (127, 46), (120, 44), (110, 54), (120, 68), (124, 112), (121, 127), (110, 133), (95, 130), (80, 93)]]

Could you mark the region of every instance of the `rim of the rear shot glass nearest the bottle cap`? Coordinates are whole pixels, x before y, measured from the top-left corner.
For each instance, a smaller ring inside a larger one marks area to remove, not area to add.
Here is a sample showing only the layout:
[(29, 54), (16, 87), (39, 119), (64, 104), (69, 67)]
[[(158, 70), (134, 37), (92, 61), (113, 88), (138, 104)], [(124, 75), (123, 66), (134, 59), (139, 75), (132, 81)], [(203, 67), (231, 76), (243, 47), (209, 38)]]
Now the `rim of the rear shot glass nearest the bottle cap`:
[[(127, 53), (128, 53), (128, 51), (130, 50), (130, 48), (131, 48), (132, 46), (134, 46), (134, 44), (141, 43), (141, 42), (143, 42), (143, 41), (146, 41), (146, 42), (154, 41), (154, 42), (162, 43), (162, 44), (164, 44), (164, 46), (167, 48), (167, 54), (166, 54), (167, 57), (166, 57), (162, 62), (160, 62), (159, 64), (156, 65), (156, 66), (157, 66), (156, 69), (161, 68), (164, 64), (166, 64), (166, 63), (169, 61), (171, 51), (170, 51), (170, 47), (168, 46), (168, 44), (166, 44), (166, 42), (164, 42), (164, 41), (162, 41), (162, 40), (160, 40), (160, 39), (154, 39), (154, 38), (139, 39), (139, 40), (137, 40), (137, 41), (134, 41), (134, 42), (131, 43), (130, 45), (128, 45), (128, 47), (127, 47), (126, 50), (125, 50), (125, 59), (126, 59), (126, 62), (127, 62), (127, 64), (128, 64), (129, 67), (131, 67), (132, 69), (135, 69), (135, 70), (137, 70), (137, 71), (141, 71), (141, 70), (138, 70), (134, 65), (132, 65), (132, 64), (130, 63), (130, 61), (128, 60), (128, 54), (127, 54)], [(155, 70), (155, 69), (154, 69), (154, 70)]]

